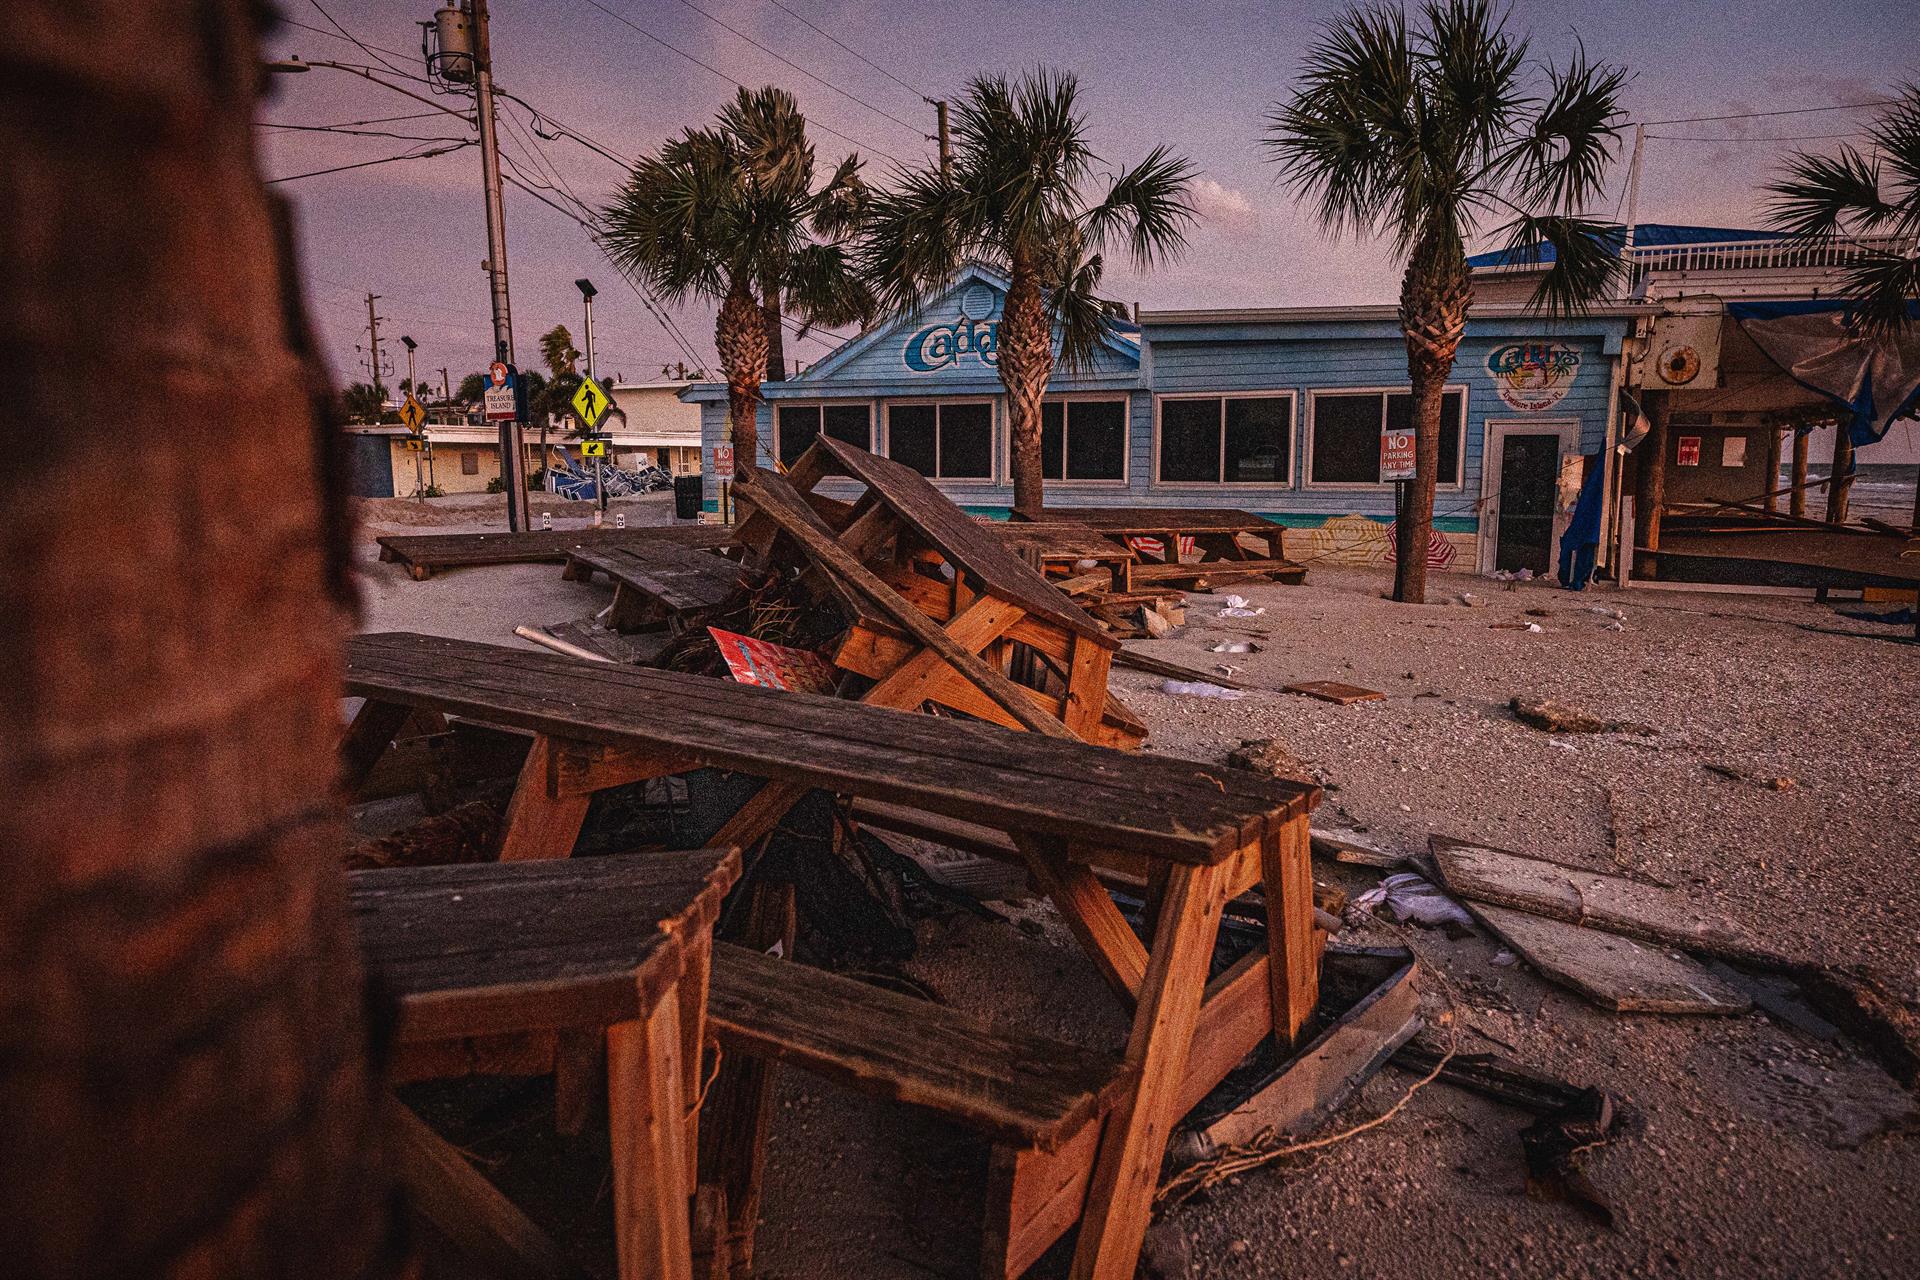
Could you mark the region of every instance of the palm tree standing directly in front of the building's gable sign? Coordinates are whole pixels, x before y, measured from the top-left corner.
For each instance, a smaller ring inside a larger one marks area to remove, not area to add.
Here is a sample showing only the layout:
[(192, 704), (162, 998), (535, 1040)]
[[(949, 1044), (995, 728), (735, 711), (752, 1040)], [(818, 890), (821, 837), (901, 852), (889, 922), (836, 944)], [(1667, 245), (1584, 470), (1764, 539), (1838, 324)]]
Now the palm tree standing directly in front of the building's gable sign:
[(1068, 368), (1087, 368), (1121, 313), (1096, 294), (1106, 251), (1123, 244), (1144, 271), (1179, 253), (1194, 221), (1194, 169), (1164, 146), (1112, 177), (1100, 200), (1085, 198), (1098, 155), (1077, 94), (1071, 75), (1044, 67), (1018, 84), (975, 77), (952, 117), (952, 163), (902, 173), (897, 190), (874, 196), (864, 228), (862, 265), (889, 311), (916, 311), (968, 259), (1006, 273), (996, 353), (1021, 510), (1044, 499), (1054, 334)]

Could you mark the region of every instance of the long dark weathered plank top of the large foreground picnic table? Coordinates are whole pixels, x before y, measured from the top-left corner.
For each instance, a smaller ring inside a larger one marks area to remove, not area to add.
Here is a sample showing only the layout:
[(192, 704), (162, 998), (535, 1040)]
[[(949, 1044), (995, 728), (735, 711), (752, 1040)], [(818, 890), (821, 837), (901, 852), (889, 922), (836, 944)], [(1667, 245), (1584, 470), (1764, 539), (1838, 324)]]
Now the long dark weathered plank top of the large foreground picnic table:
[(1092, 846), (1212, 864), (1317, 793), (1068, 739), (426, 635), (348, 645), (348, 693), (561, 739), (636, 745)]

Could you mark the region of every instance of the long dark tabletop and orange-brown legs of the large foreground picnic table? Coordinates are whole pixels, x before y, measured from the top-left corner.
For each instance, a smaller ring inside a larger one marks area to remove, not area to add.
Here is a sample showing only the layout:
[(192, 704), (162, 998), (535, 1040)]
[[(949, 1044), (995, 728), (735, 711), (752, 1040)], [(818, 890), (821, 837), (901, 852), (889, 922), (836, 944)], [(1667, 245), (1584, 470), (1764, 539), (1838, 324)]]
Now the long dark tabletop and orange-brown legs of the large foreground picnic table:
[[(505, 860), (566, 856), (595, 791), (695, 768), (768, 779), (714, 844), (749, 846), (780, 821), (797, 789), (816, 787), (1002, 833), (1133, 1011), (1133, 1031), (1104, 1082), (1085, 1086), (1091, 1103), (1044, 1125), (1006, 1119), (989, 1134), (998, 1144), (987, 1259), (995, 1274), (1020, 1274), (1079, 1222), (1075, 1276), (1133, 1276), (1173, 1125), (1269, 1032), (1292, 1044), (1317, 1000), (1325, 935), (1313, 923), (1308, 864), (1315, 787), (987, 723), (409, 633), (349, 641), (346, 687), (367, 699), (344, 752), (349, 781), (371, 768), (409, 708), (532, 735), (499, 850)], [(1098, 869), (1148, 885), (1150, 944), (1121, 917)], [(1267, 948), (1208, 983), (1221, 912), (1256, 885), (1265, 887)], [(795, 971), (795, 981), (816, 981)], [(758, 986), (726, 986), (730, 1019)], [(879, 1080), (889, 1096), (918, 1105), (943, 1105), (954, 1094), (918, 1077), (902, 1080), (914, 1071), (952, 1073), (952, 1061), (899, 1052), (877, 1061), (872, 1046), (808, 1048), (803, 1032), (778, 1036), (762, 1025), (760, 1044), (774, 1038), (806, 1065)], [(987, 1067), (973, 1079), (973, 1098), (1023, 1092), (1018, 1079)], [(1064, 1092), (1054, 1077), (1048, 1096)]]

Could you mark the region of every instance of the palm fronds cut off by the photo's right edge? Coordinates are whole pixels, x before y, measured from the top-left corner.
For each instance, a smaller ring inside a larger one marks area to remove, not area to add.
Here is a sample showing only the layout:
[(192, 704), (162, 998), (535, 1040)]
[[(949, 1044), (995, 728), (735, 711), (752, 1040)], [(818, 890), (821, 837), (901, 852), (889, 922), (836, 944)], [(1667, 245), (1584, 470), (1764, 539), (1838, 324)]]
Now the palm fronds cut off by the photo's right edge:
[[(1774, 226), (1811, 242), (1851, 236), (1920, 236), (1920, 84), (1899, 96), (1866, 127), (1862, 154), (1843, 142), (1834, 155), (1795, 152), (1784, 175), (1768, 182)], [(1862, 246), (1847, 269), (1845, 297), (1866, 334), (1895, 334), (1914, 322), (1920, 255), (1908, 244)]]

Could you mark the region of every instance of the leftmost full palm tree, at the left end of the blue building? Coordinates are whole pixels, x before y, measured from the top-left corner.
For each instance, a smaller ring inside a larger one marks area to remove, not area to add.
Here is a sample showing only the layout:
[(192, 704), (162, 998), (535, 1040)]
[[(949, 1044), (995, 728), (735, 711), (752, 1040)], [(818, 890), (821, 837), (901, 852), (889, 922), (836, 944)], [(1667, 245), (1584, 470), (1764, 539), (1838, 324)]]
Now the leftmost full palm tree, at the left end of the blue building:
[(712, 129), (687, 129), (634, 165), (607, 207), (601, 246), (614, 267), (668, 303), (720, 303), (714, 345), (728, 382), (733, 468), (758, 451), (768, 372), (766, 299), (845, 324), (872, 299), (847, 257), (866, 188), (849, 155), (814, 186), (806, 117), (780, 88), (741, 88)]

